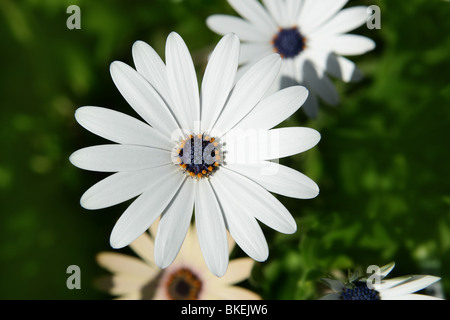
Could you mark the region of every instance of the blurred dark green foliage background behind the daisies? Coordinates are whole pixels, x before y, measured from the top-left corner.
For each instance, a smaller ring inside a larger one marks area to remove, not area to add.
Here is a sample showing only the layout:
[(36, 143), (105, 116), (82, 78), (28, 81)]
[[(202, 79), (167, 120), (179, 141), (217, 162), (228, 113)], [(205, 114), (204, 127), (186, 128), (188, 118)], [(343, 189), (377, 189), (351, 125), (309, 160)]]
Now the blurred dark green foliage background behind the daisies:
[[(72, 4), (81, 30), (66, 27)], [(320, 277), (390, 261), (392, 276), (441, 276), (450, 297), (450, 2), (349, 2), (358, 4), (382, 14), (381, 30), (354, 32), (377, 42), (351, 57), (365, 79), (336, 81), (339, 107), (322, 104), (317, 119), (300, 111), (283, 124), (321, 132), (316, 148), (282, 161), (321, 194), (280, 197), (299, 231), (264, 228), (269, 259), (242, 284), (265, 299), (315, 299)], [(112, 251), (109, 234), (127, 204), (94, 212), (79, 205), (104, 175), (68, 157), (105, 141), (79, 126), (74, 111), (95, 105), (135, 115), (109, 64), (133, 65), (136, 40), (163, 56), (167, 35), (178, 32), (201, 77), (220, 39), (205, 25), (216, 13), (234, 14), (225, 0), (0, 0), (0, 299), (109, 298), (92, 285), (106, 273), (95, 255)], [(66, 287), (72, 264), (81, 290)]]

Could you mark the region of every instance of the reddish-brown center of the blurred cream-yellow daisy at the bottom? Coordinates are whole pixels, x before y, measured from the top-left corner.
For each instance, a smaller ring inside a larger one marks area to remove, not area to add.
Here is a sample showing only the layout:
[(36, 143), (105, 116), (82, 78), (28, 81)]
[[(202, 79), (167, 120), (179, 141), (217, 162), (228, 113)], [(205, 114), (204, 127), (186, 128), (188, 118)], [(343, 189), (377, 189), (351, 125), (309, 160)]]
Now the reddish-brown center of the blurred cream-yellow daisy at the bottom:
[(167, 295), (173, 300), (197, 300), (202, 281), (189, 269), (173, 272), (166, 283)]

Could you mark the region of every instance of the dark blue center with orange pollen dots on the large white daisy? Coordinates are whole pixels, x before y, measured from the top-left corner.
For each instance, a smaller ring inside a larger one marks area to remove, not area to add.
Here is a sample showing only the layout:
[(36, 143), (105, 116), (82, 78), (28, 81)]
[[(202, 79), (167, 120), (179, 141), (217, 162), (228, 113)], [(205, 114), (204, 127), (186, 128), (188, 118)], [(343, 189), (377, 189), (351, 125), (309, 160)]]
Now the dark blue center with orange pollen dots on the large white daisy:
[(221, 162), (219, 142), (203, 134), (191, 134), (181, 141), (175, 157), (177, 164), (191, 177), (209, 177)]

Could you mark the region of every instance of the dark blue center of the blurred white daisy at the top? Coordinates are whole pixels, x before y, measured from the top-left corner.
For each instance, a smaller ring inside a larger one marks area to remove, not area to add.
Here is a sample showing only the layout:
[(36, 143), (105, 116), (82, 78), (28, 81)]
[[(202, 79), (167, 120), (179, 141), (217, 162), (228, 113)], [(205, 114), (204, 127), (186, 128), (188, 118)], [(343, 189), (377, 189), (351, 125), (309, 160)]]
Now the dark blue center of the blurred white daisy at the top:
[(305, 38), (297, 27), (281, 29), (272, 40), (273, 47), (283, 58), (293, 58), (305, 49)]

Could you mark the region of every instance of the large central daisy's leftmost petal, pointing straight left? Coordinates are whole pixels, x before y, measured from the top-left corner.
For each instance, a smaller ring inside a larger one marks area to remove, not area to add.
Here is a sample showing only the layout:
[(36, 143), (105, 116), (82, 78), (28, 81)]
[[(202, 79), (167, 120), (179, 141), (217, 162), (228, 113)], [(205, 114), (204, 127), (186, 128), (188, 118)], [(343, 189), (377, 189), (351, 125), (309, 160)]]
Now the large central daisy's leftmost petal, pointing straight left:
[(167, 150), (123, 144), (83, 148), (72, 153), (69, 160), (78, 168), (99, 172), (133, 171), (171, 163)]

